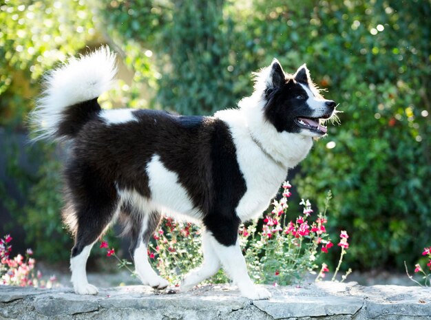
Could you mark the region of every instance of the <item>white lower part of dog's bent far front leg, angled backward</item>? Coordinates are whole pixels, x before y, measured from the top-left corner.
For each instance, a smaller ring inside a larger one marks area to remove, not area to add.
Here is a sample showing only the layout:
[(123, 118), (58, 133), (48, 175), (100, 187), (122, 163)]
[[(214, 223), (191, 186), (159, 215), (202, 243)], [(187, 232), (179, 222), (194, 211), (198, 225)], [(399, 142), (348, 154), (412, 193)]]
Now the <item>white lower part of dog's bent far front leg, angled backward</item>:
[(220, 259), (218, 259), (213, 246), (211, 245), (212, 235), (208, 231), (202, 233), (202, 251), (204, 254), (204, 262), (199, 268), (192, 270), (185, 276), (182, 281), (180, 290), (185, 292), (196, 286), (204, 279), (215, 275), (220, 269)]

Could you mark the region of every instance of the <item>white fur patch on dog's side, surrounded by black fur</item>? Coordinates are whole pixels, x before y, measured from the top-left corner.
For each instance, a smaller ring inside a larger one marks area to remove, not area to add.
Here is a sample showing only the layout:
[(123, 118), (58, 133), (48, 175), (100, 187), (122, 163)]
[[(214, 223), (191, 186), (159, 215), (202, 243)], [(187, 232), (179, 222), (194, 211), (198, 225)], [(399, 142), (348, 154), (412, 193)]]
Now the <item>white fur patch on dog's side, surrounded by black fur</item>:
[(151, 202), (162, 213), (187, 215), (188, 220), (200, 219), (202, 213), (193, 206), (187, 190), (178, 182), (178, 175), (169, 171), (161, 162), (160, 156), (154, 154), (147, 164)]

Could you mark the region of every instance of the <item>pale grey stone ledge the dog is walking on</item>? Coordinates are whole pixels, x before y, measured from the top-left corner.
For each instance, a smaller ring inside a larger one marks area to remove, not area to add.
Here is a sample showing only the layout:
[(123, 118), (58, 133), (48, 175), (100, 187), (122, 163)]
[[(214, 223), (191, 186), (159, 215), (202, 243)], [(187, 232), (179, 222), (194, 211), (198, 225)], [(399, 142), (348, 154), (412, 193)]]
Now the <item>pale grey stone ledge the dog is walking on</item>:
[(72, 288), (0, 286), (0, 320), (431, 320), (431, 288), (363, 287), (330, 281), (267, 288), (271, 299), (251, 301), (227, 285), (175, 294), (125, 286), (104, 288), (95, 296), (75, 295)]

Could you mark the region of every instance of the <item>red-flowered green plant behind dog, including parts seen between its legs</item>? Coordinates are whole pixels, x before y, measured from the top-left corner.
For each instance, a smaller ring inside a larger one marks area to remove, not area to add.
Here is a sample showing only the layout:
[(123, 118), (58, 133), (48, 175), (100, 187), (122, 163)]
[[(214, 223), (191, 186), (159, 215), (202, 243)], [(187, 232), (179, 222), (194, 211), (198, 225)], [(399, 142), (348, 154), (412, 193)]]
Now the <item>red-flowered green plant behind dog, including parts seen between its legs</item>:
[[(315, 273), (318, 268), (317, 258), (328, 253), (334, 246), (326, 232), (326, 211), (332, 197), (328, 193), (323, 213), (313, 217), (313, 209), (308, 200), (302, 199), (302, 214), (288, 221), (288, 198), (291, 196), (291, 184), (282, 184), (283, 192), (280, 200), (274, 200), (273, 209), (267, 213), (260, 227), (260, 222), (240, 226), (240, 243), (249, 267), (249, 273), (256, 283), (291, 284), (304, 279), (306, 273)], [(341, 257), (333, 281), (337, 276), (343, 256), (348, 249), (348, 234), (341, 231)], [(182, 275), (202, 264), (200, 251), (200, 230), (190, 222), (176, 222), (171, 217), (164, 217), (161, 227), (154, 233), (149, 244), (148, 257), (154, 268), (162, 277), (171, 282), (178, 282)], [(101, 248), (107, 248), (107, 256), (118, 259), (118, 266), (127, 267), (130, 262), (121, 260), (114, 248), (109, 249), (106, 242)], [(131, 270), (130, 270), (131, 271)], [(316, 281), (325, 277), (328, 266), (322, 264)], [(132, 272), (132, 271), (131, 271)], [(348, 273), (351, 270), (349, 269)], [(342, 277), (341, 281), (346, 279)], [(212, 283), (227, 282), (227, 277), (219, 271), (211, 279)]]

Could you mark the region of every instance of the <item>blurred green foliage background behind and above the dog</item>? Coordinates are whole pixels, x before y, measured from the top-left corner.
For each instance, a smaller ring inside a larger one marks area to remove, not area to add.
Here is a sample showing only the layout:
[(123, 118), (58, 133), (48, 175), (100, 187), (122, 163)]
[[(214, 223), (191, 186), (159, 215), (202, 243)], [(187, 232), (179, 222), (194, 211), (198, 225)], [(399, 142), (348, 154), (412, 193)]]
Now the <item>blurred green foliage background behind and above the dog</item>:
[(1, 1), (0, 235), (68, 263), (61, 146), (29, 144), (25, 126), (59, 61), (107, 44), (120, 68), (103, 107), (209, 115), (251, 94), (251, 72), (277, 57), (286, 72), (307, 63), (343, 111), (289, 174), (292, 203), (321, 208), (332, 191), (346, 267), (412, 268), (431, 246), (430, 17), (429, 0)]

